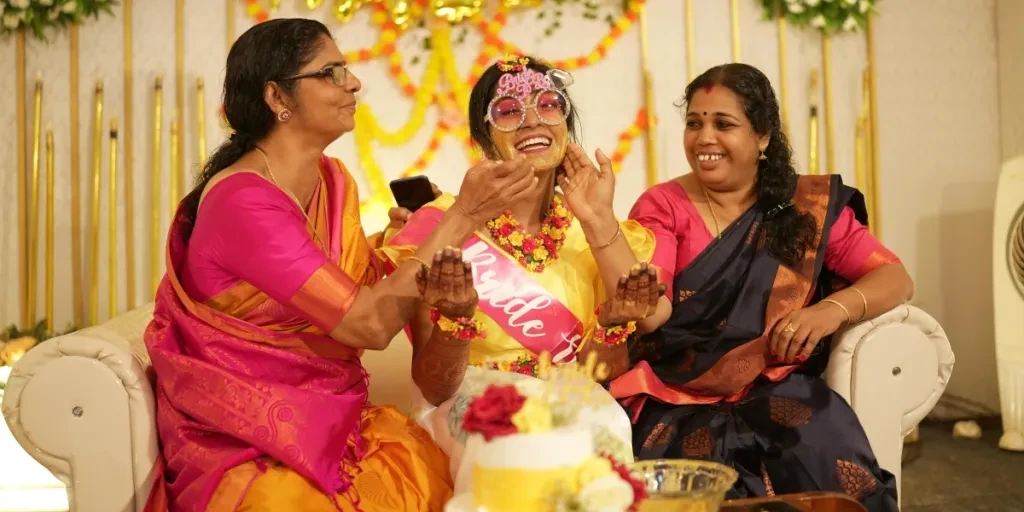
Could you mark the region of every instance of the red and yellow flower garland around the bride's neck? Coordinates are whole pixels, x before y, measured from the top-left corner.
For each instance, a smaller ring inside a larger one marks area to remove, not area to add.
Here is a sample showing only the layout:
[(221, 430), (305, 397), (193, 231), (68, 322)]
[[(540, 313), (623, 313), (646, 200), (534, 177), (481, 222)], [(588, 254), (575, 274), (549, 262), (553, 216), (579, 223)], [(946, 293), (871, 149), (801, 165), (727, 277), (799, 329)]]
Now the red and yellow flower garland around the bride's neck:
[(558, 259), (558, 250), (565, 243), (565, 231), (570, 224), (572, 214), (565, 208), (562, 198), (555, 196), (541, 223), (541, 232), (527, 234), (508, 211), (488, 220), (487, 229), (498, 246), (519, 264), (531, 272), (543, 272), (550, 262)]

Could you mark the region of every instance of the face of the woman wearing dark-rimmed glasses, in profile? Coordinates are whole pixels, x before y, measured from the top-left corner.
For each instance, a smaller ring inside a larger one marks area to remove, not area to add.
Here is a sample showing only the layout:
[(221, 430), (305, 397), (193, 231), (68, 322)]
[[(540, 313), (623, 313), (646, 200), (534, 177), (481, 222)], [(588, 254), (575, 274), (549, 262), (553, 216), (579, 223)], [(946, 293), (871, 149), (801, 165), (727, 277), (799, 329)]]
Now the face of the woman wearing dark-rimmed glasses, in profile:
[[(295, 74), (290, 100), (290, 124), (325, 139), (334, 140), (355, 127), (355, 93), (362, 84), (346, 68), (334, 40), (322, 39), (319, 50)], [(280, 110), (275, 109), (275, 112)]]

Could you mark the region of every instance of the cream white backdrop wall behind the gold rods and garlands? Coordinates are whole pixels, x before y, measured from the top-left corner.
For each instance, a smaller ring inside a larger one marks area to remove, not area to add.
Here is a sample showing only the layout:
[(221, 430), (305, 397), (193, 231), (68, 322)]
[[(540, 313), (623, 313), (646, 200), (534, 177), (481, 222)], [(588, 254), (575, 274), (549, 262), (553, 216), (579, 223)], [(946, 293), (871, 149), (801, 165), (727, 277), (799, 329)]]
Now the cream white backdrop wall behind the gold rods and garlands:
[[(328, 2), (330, 3), (330, 2)], [(207, 146), (212, 151), (224, 133), (219, 127), (217, 108), (226, 56), (226, 9), (224, 1), (185, 0), (184, 18), (184, 83), (185, 119), (183, 125), (184, 159), (190, 176), (200, 160), (196, 143), (195, 83), (198, 77), (206, 82)], [(369, 47), (377, 30), (369, 22), (369, 9), (357, 14), (348, 25), (339, 26), (328, 8), (310, 13), (304, 2), (283, 2), (278, 16), (303, 15), (324, 19), (334, 30), (343, 51)], [(775, 25), (760, 19), (760, 8), (754, 0), (739, 2), (741, 60), (761, 68), (773, 83), (778, 84), (779, 59)], [(242, 2), (237, 7), (237, 31), (251, 26), (245, 17)], [(682, 124), (673, 101), (686, 84), (686, 48), (683, 33), (683, 2), (680, 0), (648, 0), (650, 66), (654, 79), (654, 96), (658, 125), (657, 166), (660, 178), (669, 179), (687, 171), (682, 156)], [(116, 16), (104, 16), (80, 30), (80, 88), (71, 91), (68, 65), (69, 45), (66, 35), (55, 36), (50, 43), (30, 40), (27, 48), (29, 83), (26, 96), (27, 121), (32, 120), (33, 80), (41, 73), (45, 81), (43, 127), (52, 127), (56, 147), (56, 303), (55, 325), (72, 319), (71, 294), (71, 219), (69, 162), (81, 162), (82, 211), (76, 216), (82, 221), (83, 241), (89, 211), (88, 184), (91, 179), (91, 124), (94, 82), (104, 84), (104, 131), (111, 117), (123, 116), (123, 20), (120, 7)], [(727, 0), (694, 0), (695, 69), (730, 60), (729, 2)], [(541, 37), (534, 23), (535, 14), (513, 15), (502, 36), (524, 50), (548, 59), (559, 59), (589, 53), (607, 26), (574, 18), (563, 24), (551, 38)], [(162, 228), (166, 229), (170, 207), (167, 204), (168, 144), (175, 98), (174, 82), (174, 2), (169, 0), (135, 0), (133, 11), (133, 77), (134, 77), (134, 155), (135, 176), (135, 272), (136, 301), (152, 297), (150, 286), (150, 215), (159, 206)], [(407, 55), (407, 70), (418, 81), (426, 58), (410, 65), (415, 54), (423, 55), (422, 32), (399, 40), (399, 51)], [(807, 168), (809, 77), (820, 69), (820, 37), (810, 32), (790, 29), (785, 35), (787, 63), (785, 70), (790, 88), (786, 97), (790, 112), (788, 136), (794, 146), (798, 168)], [(463, 75), (476, 57), (480, 39), (475, 29), (462, 44), (455, 45), (458, 65)], [(585, 147), (597, 147), (611, 153), (621, 131), (632, 122), (642, 106), (639, 68), (638, 31), (634, 27), (621, 38), (600, 62), (573, 72), (575, 85), (570, 88), (573, 103), (583, 121)], [(996, 404), (994, 356), (991, 328), (991, 260), (985, 251), (990, 244), (992, 184), (998, 168), (998, 103), (996, 98), (994, 0), (887, 0), (882, 2), (877, 29), (879, 73), (879, 115), (881, 133), (882, 211), (884, 240), (900, 254), (918, 284), (916, 302), (943, 323), (954, 349), (957, 349), (957, 378), (951, 389), (959, 394)], [(835, 126), (836, 170), (854, 183), (854, 123), (860, 109), (861, 73), (865, 66), (864, 39), (860, 35), (837, 37), (833, 41), (833, 101)], [(0, 41), (0, 126), (6, 136), (0, 138), (0, 323), (19, 317), (17, 293), (18, 259), (16, 201), (16, 140), (15, 78), (13, 39)], [(352, 66), (362, 80), (360, 101), (369, 103), (382, 126), (394, 129), (409, 117), (412, 101), (403, 96), (387, 73), (387, 60), (378, 58)], [(153, 81), (164, 77), (163, 173), (165, 194), (156, 205), (152, 189), (152, 112)], [(966, 77), (966, 78), (965, 78)], [(80, 155), (70, 155), (69, 105), (71, 94), (79, 97)], [(823, 111), (823, 103), (822, 103)], [(436, 111), (428, 114), (426, 127), (436, 121)], [(820, 151), (824, 152), (824, 120), (821, 120)], [(122, 123), (123, 125), (123, 123)], [(425, 150), (429, 140), (424, 128), (406, 146), (377, 148), (376, 159), (387, 179), (397, 177)], [(101, 166), (104, 184), (101, 203), (100, 300), (99, 318), (110, 316), (106, 309), (106, 191), (109, 158), (103, 142)], [(31, 131), (27, 151), (31, 151)], [(355, 147), (349, 135), (335, 142), (329, 153), (340, 157), (356, 175), (360, 190), (367, 193)], [(118, 157), (122, 162), (123, 153)], [(822, 167), (824, 166), (822, 159)], [(456, 190), (467, 168), (468, 159), (462, 144), (455, 138), (442, 142), (427, 174), (441, 188)], [(630, 206), (645, 188), (644, 144), (638, 138), (626, 158), (620, 175), (615, 208), (625, 216)], [(123, 191), (115, 198), (123, 204)], [(42, 218), (41, 218), (42, 222)], [(383, 219), (365, 219), (368, 230), (380, 227)], [(119, 257), (124, 261), (124, 220), (119, 219)], [(42, 224), (41, 224), (42, 225)], [(40, 239), (42, 241), (42, 238)], [(40, 245), (40, 258), (42, 258)], [(83, 248), (86, 249), (86, 248)], [(959, 251), (959, 252), (957, 252)], [(85, 251), (86, 255), (90, 254)], [(88, 270), (87, 259), (83, 266)], [(39, 283), (42, 284), (42, 259)], [(88, 278), (86, 271), (85, 276)], [(118, 295), (120, 309), (125, 307), (124, 278)], [(43, 294), (38, 294), (36, 308), (43, 311)], [(973, 373), (970, 379), (961, 378)]]

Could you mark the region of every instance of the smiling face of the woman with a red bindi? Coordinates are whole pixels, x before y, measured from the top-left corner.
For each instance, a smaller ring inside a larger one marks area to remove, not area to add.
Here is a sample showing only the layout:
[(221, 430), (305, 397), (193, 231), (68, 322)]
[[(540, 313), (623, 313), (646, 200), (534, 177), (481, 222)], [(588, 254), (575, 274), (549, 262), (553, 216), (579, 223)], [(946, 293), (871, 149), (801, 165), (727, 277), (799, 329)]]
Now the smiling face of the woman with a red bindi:
[(758, 157), (770, 134), (758, 134), (743, 104), (727, 87), (705, 87), (686, 109), (683, 147), (690, 168), (707, 184), (736, 184), (757, 176)]

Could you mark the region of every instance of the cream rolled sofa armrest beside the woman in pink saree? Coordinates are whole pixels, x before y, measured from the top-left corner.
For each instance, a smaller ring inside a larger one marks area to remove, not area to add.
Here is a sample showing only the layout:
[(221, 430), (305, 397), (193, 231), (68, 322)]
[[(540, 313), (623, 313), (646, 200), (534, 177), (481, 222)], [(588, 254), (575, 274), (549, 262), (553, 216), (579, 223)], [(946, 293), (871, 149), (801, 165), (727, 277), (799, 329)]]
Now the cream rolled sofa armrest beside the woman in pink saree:
[(87, 330), (41, 343), (14, 366), (3, 416), (26, 452), (68, 486), (71, 510), (145, 506), (159, 455), (155, 400), (128, 340)]

